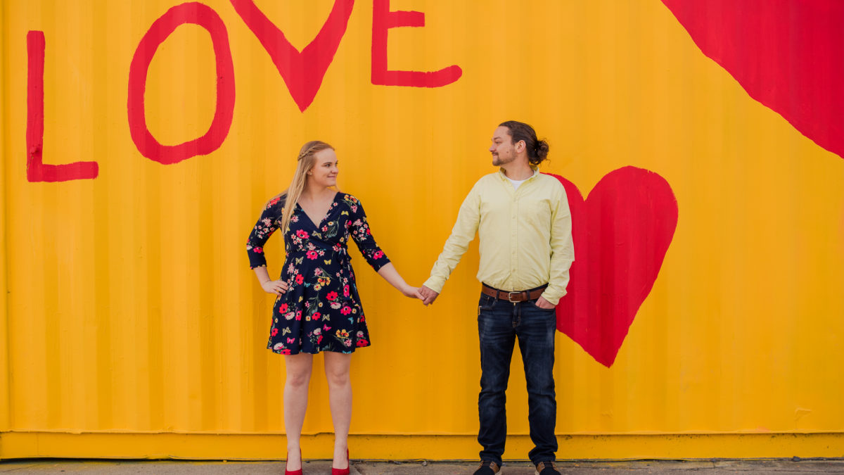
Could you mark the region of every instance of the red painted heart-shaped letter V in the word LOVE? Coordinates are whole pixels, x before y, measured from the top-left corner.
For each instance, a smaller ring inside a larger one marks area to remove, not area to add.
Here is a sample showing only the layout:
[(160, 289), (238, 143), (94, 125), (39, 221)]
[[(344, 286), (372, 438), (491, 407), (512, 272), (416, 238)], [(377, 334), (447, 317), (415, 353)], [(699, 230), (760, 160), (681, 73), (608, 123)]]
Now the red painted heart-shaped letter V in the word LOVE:
[(287, 41), (284, 33), (273, 25), (252, 0), (230, 2), (273, 59), (299, 110), (305, 112), (317, 96), (322, 78), (346, 33), (354, 0), (334, 0), (322, 30), (301, 52)]

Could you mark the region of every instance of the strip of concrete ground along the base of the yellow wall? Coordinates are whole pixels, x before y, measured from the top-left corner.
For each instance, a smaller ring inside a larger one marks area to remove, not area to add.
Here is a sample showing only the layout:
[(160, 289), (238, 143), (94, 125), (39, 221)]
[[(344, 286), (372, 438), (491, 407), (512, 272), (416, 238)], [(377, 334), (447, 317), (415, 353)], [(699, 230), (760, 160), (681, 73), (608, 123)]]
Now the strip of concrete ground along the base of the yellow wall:
[[(471, 475), (477, 462), (352, 461), (352, 475)], [(562, 473), (844, 473), (844, 459), (763, 459), (686, 461), (561, 461)], [(309, 461), (306, 475), (331, 473), (330, 461)], [(501, 475), (532, 475), (527, 461), (506, 462)], [(284, 473), (283, 461), (114, 461), (26, 459), (0, 461), (0, 473), (82, 473), (84, 475), (262, 475)]]

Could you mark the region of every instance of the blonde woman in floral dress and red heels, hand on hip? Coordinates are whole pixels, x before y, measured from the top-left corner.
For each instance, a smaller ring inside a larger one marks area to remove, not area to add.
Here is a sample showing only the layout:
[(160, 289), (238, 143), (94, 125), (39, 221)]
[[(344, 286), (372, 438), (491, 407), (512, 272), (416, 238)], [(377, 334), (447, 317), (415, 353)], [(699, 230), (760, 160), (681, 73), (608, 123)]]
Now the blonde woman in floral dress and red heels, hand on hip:
[[(334, 423), (332, 474), (349, 473), (349, 423), (352, 386), (349, 363), (355, 348), (370, 345), (354, 271), (349, 238), (378, 274), (405, 296), (421, 298), (398, 275), (372, 238), (360, 201), (336, 191), (338, 161), (331, 145), (302, 146), (290, 187), (264, 208), (249, 241), (249, 262), (264, 291), (277, 294), (268, 348), (284, 355), (284, 427), (287, 475), (301, 474), (300, 434), (305, 420), (313, 354), (324, 352), (331, 416)], [(285, 260), (273, 281), (263, 245), (276, 229), (284, 230)]]

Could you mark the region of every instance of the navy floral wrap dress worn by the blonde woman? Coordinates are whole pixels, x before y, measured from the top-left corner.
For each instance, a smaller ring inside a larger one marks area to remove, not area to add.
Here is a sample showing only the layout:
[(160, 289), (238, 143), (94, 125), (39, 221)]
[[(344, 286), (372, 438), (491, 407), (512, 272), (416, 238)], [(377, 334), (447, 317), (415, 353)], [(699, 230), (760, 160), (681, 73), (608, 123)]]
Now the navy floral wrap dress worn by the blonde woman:
[[(270, 200), (249, 235), (246, 253), (252, 269), (266, 266), (263, 245), (281, 226), (284, 196)], [(349, 237), (376, 271), (390, 262), (372, 238), (360, 201), (350, 194), (334, 196), (319, 223), (295, 204), (284, 234), (284, 270), (288, 290), (273, 305), (267, 347), (291, 355), (299, 352), (354, 352), (370, 345), (364, 309), (346, 248)]]

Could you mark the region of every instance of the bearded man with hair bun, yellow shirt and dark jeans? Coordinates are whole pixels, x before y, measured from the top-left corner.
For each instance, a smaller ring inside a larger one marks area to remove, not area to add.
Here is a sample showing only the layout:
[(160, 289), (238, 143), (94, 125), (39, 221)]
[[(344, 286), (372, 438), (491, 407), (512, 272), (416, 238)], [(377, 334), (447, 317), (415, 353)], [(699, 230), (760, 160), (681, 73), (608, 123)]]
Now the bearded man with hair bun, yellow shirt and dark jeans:
[(433, 303), (478, 232), (478, 442), (484, 449), (475, 475), (492, 475), (501, 467), (507, 435), (505, 390), (516, 338), (535, 445), (528, 456), (538, 475), (560, 473), (554, 467), (555, 305), (565, 295), (574, 248), (565, 188), (555, 177), (538, 172), (548, 150), (526, 123), (508, 121), (495, 129), (490, 152), (500, 170), (481, 177), (463, 200), (452, 235), (420, 288), (425, 305)]

